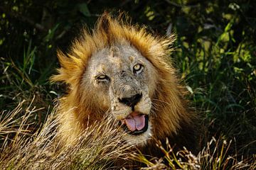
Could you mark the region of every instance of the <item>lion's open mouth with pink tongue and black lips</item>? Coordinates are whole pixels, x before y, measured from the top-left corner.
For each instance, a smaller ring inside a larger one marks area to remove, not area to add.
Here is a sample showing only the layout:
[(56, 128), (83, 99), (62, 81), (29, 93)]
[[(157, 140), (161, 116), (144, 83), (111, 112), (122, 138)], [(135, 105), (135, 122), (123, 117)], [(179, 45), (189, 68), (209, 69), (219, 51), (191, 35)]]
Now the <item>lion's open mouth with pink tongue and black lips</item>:
[(133, 112), (121, 120), (122, 128), (130, 135), (140, 135), (148, 129), (149, 115)]

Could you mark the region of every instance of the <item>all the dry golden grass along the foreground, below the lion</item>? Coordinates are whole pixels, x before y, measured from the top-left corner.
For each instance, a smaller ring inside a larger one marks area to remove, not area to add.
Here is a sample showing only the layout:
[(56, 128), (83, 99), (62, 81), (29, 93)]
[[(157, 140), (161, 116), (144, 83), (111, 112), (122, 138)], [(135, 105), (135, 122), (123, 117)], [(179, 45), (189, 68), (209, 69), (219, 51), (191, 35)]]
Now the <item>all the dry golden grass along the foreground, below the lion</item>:
[[(61, 146), (58, 140), (58, 119), (56, 110), (48, 114), (46, 123), (36, 132), (28, 120), (41, 111), (34, 108), (33, 101), (25, 109), (23, 102), (8, 113), (1, 113), (0, 169), (120, 169), (119, 159), (135, 160), (143, 163), (140, 169), (255, 169), (255, 156), (248, 160), (238, 155), (230, 155), (232, 141), (215, 140), (208, 142), (198, 155), (187, 149), (174, 153), (168, 148), (156, 145), (165, 157), (146, 158), (139, 152), (131, 152), (131, 147), (122, 142), (117, 123), (105, 118), (87, 128), (78, 139), (78, 145)], [(23, 113), (23, 116), (16, 116)]]

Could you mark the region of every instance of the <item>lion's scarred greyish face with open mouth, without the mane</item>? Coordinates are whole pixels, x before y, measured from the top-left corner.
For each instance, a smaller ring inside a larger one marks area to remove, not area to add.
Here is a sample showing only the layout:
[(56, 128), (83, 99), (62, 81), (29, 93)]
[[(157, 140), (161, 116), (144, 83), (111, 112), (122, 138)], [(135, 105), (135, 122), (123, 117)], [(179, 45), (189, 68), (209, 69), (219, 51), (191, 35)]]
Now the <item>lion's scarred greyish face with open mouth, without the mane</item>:
[(92, 101), (119, 120), (127, 142), (143, 145), (151, 135), (154, 66), (130, 45), (105, 47), (92, 54), (87, 65), (82, 85), (90, 89)]

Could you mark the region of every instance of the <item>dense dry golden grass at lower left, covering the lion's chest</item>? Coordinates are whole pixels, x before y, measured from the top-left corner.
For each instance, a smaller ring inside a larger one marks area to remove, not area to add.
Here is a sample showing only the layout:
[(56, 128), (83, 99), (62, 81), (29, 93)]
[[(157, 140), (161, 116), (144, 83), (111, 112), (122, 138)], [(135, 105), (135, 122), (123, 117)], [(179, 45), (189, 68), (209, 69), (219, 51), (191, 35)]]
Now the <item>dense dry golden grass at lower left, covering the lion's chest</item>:
[[(40, 111), (24, 102), (1, 118), (0, 136), (3, 140), (0, 169), (108, 169), (117, 159), (127, 157), (131, 149), (122, 143), (122, 134), (110, 119), (95, 123), (82, 132), (78, 144), (62, 146), (58, 140), (58, 119), (55, 109), (46, 123), (36, 132), (29, 129), (30, 117)], [(120, 168), (120, 167), (119, 167)]]

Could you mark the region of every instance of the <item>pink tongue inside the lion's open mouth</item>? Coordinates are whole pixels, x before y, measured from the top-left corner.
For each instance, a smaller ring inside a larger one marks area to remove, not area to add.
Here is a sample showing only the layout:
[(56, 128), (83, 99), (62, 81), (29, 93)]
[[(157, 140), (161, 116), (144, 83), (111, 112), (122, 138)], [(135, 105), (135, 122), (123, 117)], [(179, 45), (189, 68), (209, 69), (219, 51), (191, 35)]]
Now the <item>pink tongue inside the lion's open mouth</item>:
[(145, 115), (129, 115), (128, 118), (124, 119), (127, 128), (131, 131), (142, 130), (145, 126)]

